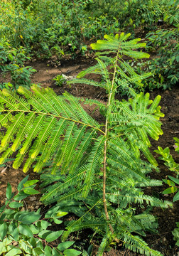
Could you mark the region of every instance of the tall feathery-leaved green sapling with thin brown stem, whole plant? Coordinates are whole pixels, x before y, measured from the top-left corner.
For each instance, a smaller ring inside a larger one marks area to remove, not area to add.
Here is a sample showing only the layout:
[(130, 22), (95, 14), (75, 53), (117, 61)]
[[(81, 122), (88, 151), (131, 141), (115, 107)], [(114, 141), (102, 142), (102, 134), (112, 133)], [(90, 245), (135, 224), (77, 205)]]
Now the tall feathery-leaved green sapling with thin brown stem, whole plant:
[[(98, 255), (112, 241), (123, 241), (130, 250), (159, 256), (161, 252), (152, 250), (141, 238), (146, 230), (155, 230), (155, 218), (147, 209), (136, 215), (134, 203), (138, 207), (143, 203), (172, 206), (141, 190), (162, 184), (147, 175), (157, 169), (148, 149), (148, 137), (158, 139), (163, 134), (159, 121), (163, 114), (158, 106), (161, 96), (152, 101), (148, 93), (136, 94), (132, 89), (132, 84), (141, 85), (143, 77), (126, 64), (123, 55), (136, 59), (149, 55), (136, 51), (145, 43), (139, 43), (139, 38), (129, 41), (129, 36), (104, 36), (104, 40), (93, 43), (92, 48), (98, 50), (97, 64), (69, 82), (104, 88), (107, 104), (67, 92), (55, 95), (50, 88), (36, 85), (31, 91), (19, 87), (17, 93), (4, 89), (0, 96), (1, 125), (8, 128), (1, 141), (0, 164), (16, 151), (15, 169), (27, 154), (23, 171), (28, 171), (34, 162), (34, 171), (50, 166), (51, 174), (46, 171), (41, 175), (41, 201), (57, 202), (60, 210), (79, 217), (67, 224), (64, 241), (73, 231), (91, 228), (102, 236)], [(102, 82), (87, 80), (88, 73), (100, 75)], [(129, 90), (128, 101), (116, 99), (118, 87)], [(96, 105), (105, 122), (101, 124), (90, 117), (81, 102)]]

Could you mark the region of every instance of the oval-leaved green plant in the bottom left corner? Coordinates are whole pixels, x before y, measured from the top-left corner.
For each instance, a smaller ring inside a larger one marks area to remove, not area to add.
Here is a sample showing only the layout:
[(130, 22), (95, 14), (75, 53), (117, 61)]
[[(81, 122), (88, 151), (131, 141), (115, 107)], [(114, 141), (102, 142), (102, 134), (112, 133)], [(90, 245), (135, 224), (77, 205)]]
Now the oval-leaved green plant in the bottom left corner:
[(67, 250), (74, 242), (61, 242), (57, 247), (50, 243), (63, 234), (63, 230), (48, 230), (53, 222), (63, 223), (59, 218), (67, 213), (60, 211), (60, 207), (50, 208), (44, 217), (40, 214), (40, 208), (36, 212), (23, 210), (23, 200), (39, 193), (34, 189), (37, 182), (38, 180), (28, 181), (28, 176), (26, 176), (18, 184), (16, 193), (12, 193), (11, 185), (8, 183), (7, 199), (4, 206), (0, 208), (0, 254), (80, 255), (81, 252), (77, 250)]

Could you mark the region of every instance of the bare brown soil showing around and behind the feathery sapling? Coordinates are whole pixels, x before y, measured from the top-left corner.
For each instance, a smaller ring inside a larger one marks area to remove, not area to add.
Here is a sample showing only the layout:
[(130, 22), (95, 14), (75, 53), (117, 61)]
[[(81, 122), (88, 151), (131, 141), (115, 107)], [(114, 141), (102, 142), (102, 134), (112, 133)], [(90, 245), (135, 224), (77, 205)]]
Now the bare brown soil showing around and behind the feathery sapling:
[[(72, 95), (75, 95), (77, 97), (88, 97), (92, 99), (98, 99), (102, 102), (106, 102), (107, 95), (105, 91), (102, 90), (102, 88), (90, 87), (87, 85), (72, 85), (72, 87), (63, 85), (62, 87), (58, 87), (57, 85), (55, 85), (55, 81), (52, 80), (53, 78), (55, 78), (56, 75), (61, 74), (67, 76), (75, 76), (80, 71), (85, 70), (94, 63), (95, 60), (91, 57), (79, 57), (75, 60), (72, 60), (70, 58), (64, 58), (60, 61), (55, 57), (51, 58), (50, 60), (34, 60), (34, 62), (30, 63), (30, 65), (37, 70), (37, 73), (33, 75), (32, 82), (36, 84), (38, 83), (42, 87), (51, 87), (58, 95), (62, 94), (66, 90), (67, 92), (70, 92)], [(94, 75), (89, 76), (90, 79), (94, 77)], [(0, 77), (0, 83), (1, 82), (4, 82), (4, 78)], [(175, 149), (173, 147), (173, 137), (178, 137), (179, 134), (179, 87), (178, 85), (176, 85), (175, 87), (173, 87), (173, 90), (166, 91), (154, 90), (153, 92), (150, 92), (150, 94), (152, 99), (156, 97), (156, 95), (162, 96), (160, 105), (162, 107), (161, 111), (165, 114), (165, 117), (161, 119), (161, 121), (163, 122), (163, 136), (160, 137), (158, 142), (152, 142), (151, 150), (153, 151), (157, 149), (158, 146), (161, 146), (162, 148), (166, 148), (168, 146), (170, 148), (170, 153), (172, 154), (173, 159), (175, 159), (176, 162), (179, 162), (179, 155), (175, 152)], [(85, 107), (85, 110), (87, 110), (89, 114), (92, 114), (92, 116), (98, 121), (102, 121), (101, 115), (93, 107)], [(154, 156), (156, 158), (158, 157), (157, 154), (154, 154)], [(161, 172), (159, 174), (153, 172), (153, 174), (151, 174), (151, 178), (158, 178), (161, 180), (162, 178), (166, 178), (167, 175), (170, 175), (170, 171), (168, 171), (166, 166), (163, 165), (162, 161), (158, 161), (158, 163)], [(11, 183), (13, 191), (15, 191), (18, 182), (26, 176), (26, 174), (23, 174), (21, 169), (12, 169), (11, 164), (12, 163), (9, 162), (8, 164), (6, 164), (5, 168), (1, 167), (0, 169), (0, 206), (4, 202), (7, 182)], [(30, 172), (30, 176), (31, 178), (38, 178), (38, 175), (33, 174), (32, 172)], [(152, 188), (152, 191), (148, 190), (148, 194), (151, 193), (161, 199), (168, 199), (169, 201), (172, 201), (173, 196), (164, 196), (162, 194), (162, 191), (165, 188), (165, 186), (159, 188)], [(27, 201), (26, 204), (27, 208), (31, 210), (39, 208), (38, 198), (36, 196), (33, 196), (33, 198), (31, 198), (31, 201)], [(153, 214), (156, 215), (156, 217), (158, 218), (158, 234), (147, 234), (146, 242), (148, 242), (148, 245), (150, 247), (162, 252), (165, 256), (178, 256), (179, 249), (175, 246), (171, 231), (175, 228), (175, 222), (179, 221), (179, 201), (173, 203), (172, 209), (162, 210), (159, 208), (154, 208)], [(87, 234), (85, 234), (85, 237), (87, 238)], [(93, 243), (95, 251), (95, 248), (97, 249), (98, 243), (97, 241), (95, 242), (95, 240), (93, 241)], [(95, 252), (93, 253), (93, 255), (95, 255)], [(110, 252), (105, 252), (104, 255), (136, 256), (139, 254), (130, 252), (129, 250), (126, 250), (123, 247), (116, 245), (116, 247), (112, 248)]]

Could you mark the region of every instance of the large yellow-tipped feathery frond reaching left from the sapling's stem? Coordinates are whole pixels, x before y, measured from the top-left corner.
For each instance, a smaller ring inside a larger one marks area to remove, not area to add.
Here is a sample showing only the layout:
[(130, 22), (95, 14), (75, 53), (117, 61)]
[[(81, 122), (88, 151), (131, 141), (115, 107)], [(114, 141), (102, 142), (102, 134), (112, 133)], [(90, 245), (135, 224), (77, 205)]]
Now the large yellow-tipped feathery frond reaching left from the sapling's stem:
[[(75, 97), (67, 93), (63, 97), (58, 97), (53, 90), (40, 89), (36, 85), (33, 85), (32, 90), (34, 92), (19, 87), (18, 92), (23, 97), (7, 90), (1, 92), (1, 111), (4, 110), (1, 125), (9, 122), (7, 132), (1, 141), (4, 149), (1, 161), (4, 161), (12, 151), (18, 150), (16, 161), (13, 163), (14, 168), (21, 165), (28, 153), (23, 171), (28, 171), (34, 161), (34, 171), (41, 171), (61, 145), (60, 151), (56, 154), (58, 158), (54, 161), (53, 171), (62, 164), (63, 172), (69, 171), (77, 149), (87, 150), (92, 134), (95, 133), (95, 129), (99, 131), (100, 126), (96, 120), (89, 117)], [(85, 136), (87, 129), (93, 130), (90, 138)], [(63, 140), (60, 140), (60, 137), (63, 137)], [(7, 149), (9, 142), (13, 142), (11, 150)], [(80, 146), (81, 142), (83, 147)], [(82, 154), (84, 151), (81, 151), (80, 157)]]

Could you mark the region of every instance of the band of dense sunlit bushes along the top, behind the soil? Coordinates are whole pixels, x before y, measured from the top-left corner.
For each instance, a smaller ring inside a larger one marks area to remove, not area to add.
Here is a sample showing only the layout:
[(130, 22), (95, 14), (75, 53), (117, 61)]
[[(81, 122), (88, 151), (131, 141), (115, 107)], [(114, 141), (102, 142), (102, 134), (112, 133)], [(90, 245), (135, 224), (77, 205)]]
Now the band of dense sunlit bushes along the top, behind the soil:
[(166, 3), (158, 0), (16, 0), (4, 1), (0, 11), (1, 38), (6, 38), (13, 47), (21, 45), (31, 53), (48, 57), (53, 46), (70, 43), (75, 50), (85, 40), (115, 33), (120, 28), (151, 29), (158, 18), (163, 17)]

